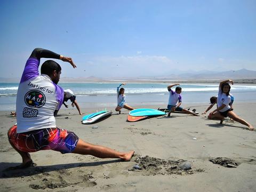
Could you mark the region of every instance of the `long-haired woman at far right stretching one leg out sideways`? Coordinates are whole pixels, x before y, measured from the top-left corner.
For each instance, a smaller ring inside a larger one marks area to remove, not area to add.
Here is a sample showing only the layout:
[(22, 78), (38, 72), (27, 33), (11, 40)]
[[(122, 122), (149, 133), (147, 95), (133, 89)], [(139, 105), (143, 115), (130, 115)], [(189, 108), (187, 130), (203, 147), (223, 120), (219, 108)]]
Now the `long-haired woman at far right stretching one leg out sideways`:
[(220, 82), (219, 93), (218, 93), (218, 98), (217, 98), (218, 108), (215, 109), (214, 111), (212, 111), (209, 114), (208, 118), (209, 119), (219, 119), (220, 124), (222, 124), (225, 117), (230, 117), (230, 118), (234, 119), (234, 121), (237, 121), (239, 123), (242, 123), (243, 125), (248, 126), (249, 130), (252, 131), (253, 126), (251, 124), (247, 123), (246, 121), (244, 121), (244, 119), (238, 117), (234, 113), (234, 111), (231, 110), (231, 107), (229, 106), (229, 103), (231, 102), (231, 97), (229, 94), (231, 87), (228, 84), (228, 82), (230, 82), (232, 85), (234, 84), (234, 82), (230, 79)]

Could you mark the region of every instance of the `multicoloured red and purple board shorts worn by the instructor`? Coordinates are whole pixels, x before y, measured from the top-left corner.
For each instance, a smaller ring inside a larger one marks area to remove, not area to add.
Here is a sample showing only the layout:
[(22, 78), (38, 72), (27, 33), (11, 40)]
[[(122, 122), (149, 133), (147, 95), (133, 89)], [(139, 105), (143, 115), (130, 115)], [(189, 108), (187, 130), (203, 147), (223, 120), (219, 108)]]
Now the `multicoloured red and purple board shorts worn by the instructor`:
[(79, 140), (75, 133), (59, 128), (17, 133), (17, 125), (11, 127), (8, 137), (17, 149), (27, 153), (49, 149), (62, 154), (72, 153)]

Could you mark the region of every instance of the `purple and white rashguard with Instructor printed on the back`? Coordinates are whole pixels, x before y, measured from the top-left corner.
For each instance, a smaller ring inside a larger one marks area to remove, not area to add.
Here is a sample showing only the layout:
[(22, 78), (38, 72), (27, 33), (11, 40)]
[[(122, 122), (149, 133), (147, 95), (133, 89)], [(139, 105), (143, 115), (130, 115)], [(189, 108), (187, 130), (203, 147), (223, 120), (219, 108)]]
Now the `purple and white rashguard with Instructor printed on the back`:
[(63, 89), (48, 75), (39, 75), (40, 58), (59, 59), (48, 50), (35, 49), (27, 60), (17, 93), (17, 133), (56, 127), (54, 110), (63, 102)]

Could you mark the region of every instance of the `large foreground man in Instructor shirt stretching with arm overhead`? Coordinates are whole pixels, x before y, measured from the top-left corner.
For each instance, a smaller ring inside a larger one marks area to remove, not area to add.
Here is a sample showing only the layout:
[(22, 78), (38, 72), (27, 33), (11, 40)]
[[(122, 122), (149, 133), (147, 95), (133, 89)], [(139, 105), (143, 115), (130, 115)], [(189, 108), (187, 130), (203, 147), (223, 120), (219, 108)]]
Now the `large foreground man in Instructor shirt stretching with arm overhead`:
[(57, 85), (61, 67), (57, 62), (47, 60), (39, 75), (41, 58), (60, 59), (76, 68), (71, 58), (52, 51), (37, 48), (31, 53), (17, 93), (17, 125), (13, 125), (7, 133), (11, 146), (22, 157), (22, 164), (13, 169), (33, 165), (29, 153), (49, 149), (62, 154), (75, 153), (130, 161), (133, 150), (121, 153), (108, 147), (93, 145), (78, 138), (74, 132), (57, 127), (53, 113), (55, 109), (60, 109), (64, 98), (63, 89)]

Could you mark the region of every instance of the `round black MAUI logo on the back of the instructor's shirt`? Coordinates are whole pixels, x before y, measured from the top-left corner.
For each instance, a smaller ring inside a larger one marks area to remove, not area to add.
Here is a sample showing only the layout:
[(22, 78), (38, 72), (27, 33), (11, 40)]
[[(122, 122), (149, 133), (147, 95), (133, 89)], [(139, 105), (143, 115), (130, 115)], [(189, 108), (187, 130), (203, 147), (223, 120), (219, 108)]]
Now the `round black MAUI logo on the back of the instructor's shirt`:
[(40, 108), (45, 104), (45, 95), (41, 91), (29, 91), (25, 95), (25, 103), (28, 107)]

